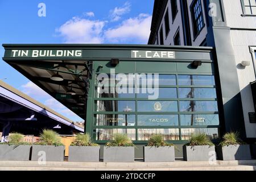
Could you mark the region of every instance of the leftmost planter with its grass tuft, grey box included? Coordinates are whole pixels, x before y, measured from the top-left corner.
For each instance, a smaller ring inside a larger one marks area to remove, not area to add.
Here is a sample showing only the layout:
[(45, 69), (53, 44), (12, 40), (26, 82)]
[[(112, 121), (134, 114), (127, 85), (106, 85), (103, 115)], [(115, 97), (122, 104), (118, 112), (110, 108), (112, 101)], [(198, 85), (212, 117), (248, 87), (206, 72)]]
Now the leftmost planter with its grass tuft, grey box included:
[(13, 133), (9, 135), (9, 142), (0, 143), (0, 160), (21, 160), (30, 159), (31, 144), (23, 142), (23, 135)]

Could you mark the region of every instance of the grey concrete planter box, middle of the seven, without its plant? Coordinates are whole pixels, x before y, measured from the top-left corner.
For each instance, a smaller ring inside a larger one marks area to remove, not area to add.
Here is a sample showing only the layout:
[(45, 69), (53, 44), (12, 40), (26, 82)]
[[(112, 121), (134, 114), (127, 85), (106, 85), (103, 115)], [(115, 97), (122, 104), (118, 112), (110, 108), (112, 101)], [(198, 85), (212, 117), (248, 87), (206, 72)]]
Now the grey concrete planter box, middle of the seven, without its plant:
[(134, 162), (134, 147), (106, 147), (103, 153), (104, 162)]

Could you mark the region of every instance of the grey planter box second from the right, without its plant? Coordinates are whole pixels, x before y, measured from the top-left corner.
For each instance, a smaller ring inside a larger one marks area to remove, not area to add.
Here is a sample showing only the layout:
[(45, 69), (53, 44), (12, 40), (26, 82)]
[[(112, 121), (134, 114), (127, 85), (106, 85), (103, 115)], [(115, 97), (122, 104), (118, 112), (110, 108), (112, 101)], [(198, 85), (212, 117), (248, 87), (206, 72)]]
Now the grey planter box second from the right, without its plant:
[(183, 158), (186, 161), (208, 161), (215, 158), (214, 146), (183, 146)]

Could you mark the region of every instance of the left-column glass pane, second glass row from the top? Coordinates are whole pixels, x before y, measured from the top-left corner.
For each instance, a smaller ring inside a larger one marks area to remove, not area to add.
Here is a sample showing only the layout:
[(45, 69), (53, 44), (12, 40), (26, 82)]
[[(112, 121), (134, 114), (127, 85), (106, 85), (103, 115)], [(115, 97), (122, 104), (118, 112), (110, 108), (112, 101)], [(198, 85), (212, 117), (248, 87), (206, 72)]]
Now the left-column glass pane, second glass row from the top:
[(135, 98), (134, 88), (97, 87), (97, 98)]

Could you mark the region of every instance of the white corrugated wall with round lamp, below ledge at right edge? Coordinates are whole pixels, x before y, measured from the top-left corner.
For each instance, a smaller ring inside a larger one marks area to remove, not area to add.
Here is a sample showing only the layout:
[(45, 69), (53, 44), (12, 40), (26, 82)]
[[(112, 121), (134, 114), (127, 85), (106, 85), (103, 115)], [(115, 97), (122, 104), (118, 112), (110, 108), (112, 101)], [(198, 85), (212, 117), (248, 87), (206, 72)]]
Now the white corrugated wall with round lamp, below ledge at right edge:
[[(256, 45), (256, 31), (232, 30), (231, 35), (234, 47), (235, 61), (237, 64), (238, 80), (241, 90), (246, 135), (248, 138), (256, 138), (256, 124), (249, 122), (248, 115), (248, 113), (254, 112), (250, 82), (255, 81), (255, 72), (249, 46)], [(241, 65), (242, 61), (250, 61), (251, 64), (249, 67), (243, 67)]]

